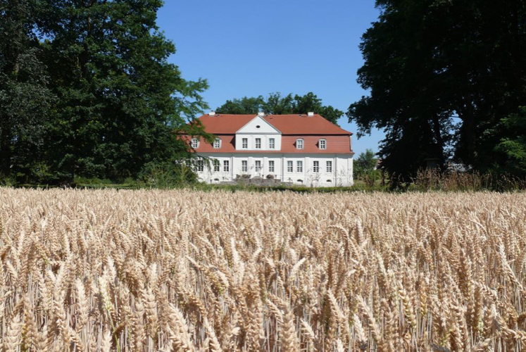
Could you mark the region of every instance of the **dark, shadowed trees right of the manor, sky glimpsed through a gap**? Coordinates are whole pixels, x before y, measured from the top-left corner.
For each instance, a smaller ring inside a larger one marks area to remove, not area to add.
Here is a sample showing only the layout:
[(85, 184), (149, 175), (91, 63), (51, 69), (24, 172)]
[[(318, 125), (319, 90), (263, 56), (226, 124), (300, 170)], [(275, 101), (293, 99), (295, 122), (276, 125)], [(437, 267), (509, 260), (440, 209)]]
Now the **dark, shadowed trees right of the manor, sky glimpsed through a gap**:
[(526, 175), (526, 1), (377, 0), (347, 115), (386, 132), (382, 167), (414, 175), (436, 158)]

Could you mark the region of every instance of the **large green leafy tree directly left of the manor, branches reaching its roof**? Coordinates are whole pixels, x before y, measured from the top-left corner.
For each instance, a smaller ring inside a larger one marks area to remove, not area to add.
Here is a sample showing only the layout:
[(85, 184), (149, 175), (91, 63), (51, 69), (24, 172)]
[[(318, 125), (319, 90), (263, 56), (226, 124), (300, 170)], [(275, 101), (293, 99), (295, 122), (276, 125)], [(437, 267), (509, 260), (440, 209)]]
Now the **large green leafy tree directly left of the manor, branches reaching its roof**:
[(49, 161), (59, 177), (132, 176), (184, 152), (174, 130), (202, 111), (205, 80), (168, 63), (160, 0), (49, 2), (43, 47), (58, 103)]

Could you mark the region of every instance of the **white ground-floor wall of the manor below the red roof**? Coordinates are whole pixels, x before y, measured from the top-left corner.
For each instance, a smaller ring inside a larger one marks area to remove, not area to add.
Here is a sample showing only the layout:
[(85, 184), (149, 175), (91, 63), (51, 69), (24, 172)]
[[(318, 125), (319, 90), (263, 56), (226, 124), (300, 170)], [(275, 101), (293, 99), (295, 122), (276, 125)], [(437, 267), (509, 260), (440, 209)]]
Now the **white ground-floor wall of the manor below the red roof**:
[[(305, 184), (309, 187), (344, 187), (353, 184), (353, 158), (342, 154), (199, 153), (199, 155), (203, 156), (205, 162), (203, 170), (198, 170), (197, 174), (201, 181), (207, 183), (231, 182), (239, 177), (266, 178), (268, 175), (273, 175), (275, 179), (282, 182)], [(217, 162), (214, 161), (218, 161), (219, 165), (217, 166)], [(261, 169), (259, 169), (260, 165)]]

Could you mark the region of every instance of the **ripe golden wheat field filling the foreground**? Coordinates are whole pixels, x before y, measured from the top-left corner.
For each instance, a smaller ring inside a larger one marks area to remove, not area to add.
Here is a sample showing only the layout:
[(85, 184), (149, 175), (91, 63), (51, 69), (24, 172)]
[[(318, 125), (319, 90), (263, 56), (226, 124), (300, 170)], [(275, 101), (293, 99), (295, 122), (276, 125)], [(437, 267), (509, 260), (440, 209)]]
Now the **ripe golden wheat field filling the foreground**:
[(526, 194), (0, 188), (2, 351), (520, 351)]

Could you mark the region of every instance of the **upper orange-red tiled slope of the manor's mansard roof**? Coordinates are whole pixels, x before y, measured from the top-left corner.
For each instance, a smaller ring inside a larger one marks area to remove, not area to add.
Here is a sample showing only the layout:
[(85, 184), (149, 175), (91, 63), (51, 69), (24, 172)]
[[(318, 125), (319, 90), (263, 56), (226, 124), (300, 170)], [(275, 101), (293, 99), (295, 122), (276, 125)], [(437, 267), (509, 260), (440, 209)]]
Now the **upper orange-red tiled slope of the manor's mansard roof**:
[[(256, 117), (251, 115), (216, 114), (214, 116), (202, 115), (199, 120), (203, 123), (206, 132), (211, 134), (235, 134), (237, 130)], [(352, 133), (325, 120), (322, 116), (314, 114), (294, 115), (265, 115), (263, 117), (284, 134), (338, 134), (349, 136)]]

